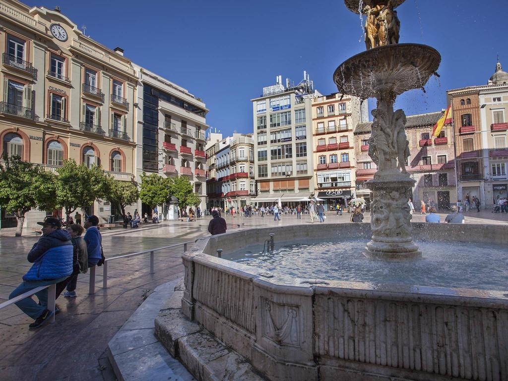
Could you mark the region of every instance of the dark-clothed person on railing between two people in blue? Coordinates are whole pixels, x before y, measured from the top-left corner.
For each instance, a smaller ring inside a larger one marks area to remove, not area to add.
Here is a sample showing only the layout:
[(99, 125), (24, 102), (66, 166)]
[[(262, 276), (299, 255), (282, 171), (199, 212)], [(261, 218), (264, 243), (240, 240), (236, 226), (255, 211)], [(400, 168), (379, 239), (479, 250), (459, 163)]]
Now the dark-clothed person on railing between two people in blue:
[[(139, 215), (139, 214), (138, 214)], [(63, 296), (65, 298), (75, 298), (76, 295), (76, 285), (78, 283), (78, 275), (79, 273), (86, 273), (88, 271), (88, 253), (86, 250), (86, 242), (81, 237), (85, 229), (81, 225), (71, 225), (69, 228), (67, 228), (67, 232), (71, 236), (71, 242), (74, 248), (74, 255), (73, 255), (73, 261), (74, 261), (74, 267), (73, 272), (69, 278), (67, 278), (65, 281), (58, 283), (56, 285), (56, 297), (58, 298), (58, 295), (63, 291), (63, 288), (67, 288), (67, 291)], [(59, 285), (61, 287), (61, 290), (59, 290)]]

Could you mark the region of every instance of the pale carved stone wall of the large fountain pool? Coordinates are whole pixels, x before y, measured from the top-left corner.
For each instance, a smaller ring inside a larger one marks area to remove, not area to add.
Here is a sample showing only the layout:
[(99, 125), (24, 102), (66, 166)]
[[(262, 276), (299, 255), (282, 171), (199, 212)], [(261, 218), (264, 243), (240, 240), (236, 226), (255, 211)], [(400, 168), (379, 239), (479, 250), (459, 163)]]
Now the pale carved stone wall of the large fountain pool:
[[(504, 243), (508, 226), (412, 224), (417, 240)], [(508, 379), (508, 294), (270, 273), (216, 258), (275, 233), (357, 237), (369, 224), (253, 229), (184, 255), (182, 311), (270, 380)], [(343, 377), (343, 378), (341, 378)]]

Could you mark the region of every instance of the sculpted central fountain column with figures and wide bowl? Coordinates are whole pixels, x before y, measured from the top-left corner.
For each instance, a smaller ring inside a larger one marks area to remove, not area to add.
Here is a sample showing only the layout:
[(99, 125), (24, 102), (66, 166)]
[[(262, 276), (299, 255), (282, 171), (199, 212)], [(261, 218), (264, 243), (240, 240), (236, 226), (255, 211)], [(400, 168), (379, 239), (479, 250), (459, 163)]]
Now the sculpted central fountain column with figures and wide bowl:
[(368, 257), (415, 258), (421, 252), (413, 242), (408, 199), (415, 180), (405, 169), (409, 144), (406, 116), (393, 109), (395, 98), (411, 89), (423, 88), (436, 73), (441, 56), (430, 46), (399, 44), (400, 21), (395, 8), (404, 0), (345, 0), (355, 13), (366, 15), (367, 51), (340, 65), (333, 75), (342, 94), (363, 100), (376, 98), (369, 139), (369, 156), (377, 165), (372, 190), (372, 239), (365, 248)]

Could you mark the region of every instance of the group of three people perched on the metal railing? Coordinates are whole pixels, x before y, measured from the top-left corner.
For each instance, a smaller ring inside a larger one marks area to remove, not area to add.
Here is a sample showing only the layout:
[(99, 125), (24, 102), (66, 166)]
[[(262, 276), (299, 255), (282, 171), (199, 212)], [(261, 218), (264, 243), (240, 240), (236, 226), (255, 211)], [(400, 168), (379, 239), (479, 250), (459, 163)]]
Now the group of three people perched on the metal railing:
[[(78, 214), (78, 213), (77, 213)], [(76, 218), (76, 221), (81, 219)], [(48, 217), (39, 222), (42, 226), (42, 236), (28, 252), (27, 261), (33, 264), (23, 275), (21, 284), (9, 295), (13, 299), (28, 291), (41, 286), (56, 285), (56, 298), (64, 289), (65, 297), (74, 298), (79, 273), (85, 273), (88, 268), (104, 264), (102, 249), (102, 235), (99, 231), (99, 218), (90, 215), (83, 227), (72, 224), (63, 230), (59, 218)], [(82, 238), (81, 235), (86, 229)], [(39, 303), (31, 297), (17, 301), (15, 304), (28, 316), (34, 319), (29, 329), (36, 329), (48, 322), (54, 313), (60, 312), (48, 309), (48, 289), (45, 288), (35, 294)]]

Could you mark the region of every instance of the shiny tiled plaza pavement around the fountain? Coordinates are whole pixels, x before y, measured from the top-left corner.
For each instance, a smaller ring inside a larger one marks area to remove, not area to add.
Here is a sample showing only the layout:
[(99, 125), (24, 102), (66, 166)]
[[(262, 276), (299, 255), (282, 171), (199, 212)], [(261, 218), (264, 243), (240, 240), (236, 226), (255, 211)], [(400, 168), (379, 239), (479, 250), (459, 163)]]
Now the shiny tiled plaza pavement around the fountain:
[[(440, 214), (441, 221), (446, 214)], [(350, 215), (327, 213), (326, 224), (348, 222)], [(226, 216), (228, 231), (281, 225), (310, 224), (308, 215)], [(370, 220), (365, 213), (365, 222)], [(414, 214), (413, 221), (425, 215)], [(209, 217), (197, 222), (169, 221), (142, 226), (139, 230), (104, 231), (106, 257), (181, 243), (207, 236)], [(506, 224), (508, 214), (476, 211), (466, 214), (467, 224)], [(319, 224), (316, 222), (316, 224)], [(29, 268), (26, 255), (38, 237), (0, 238), (0, 302), (7, 300)], [(183, 276), (182, 247), (155, 254), (155, 273), (149, 272), (149, 257), (141, 255), (112, 261), (108, 289), (102, 289), (102, 269), (96, 276), (96, 294), (88, 295), (88, 274), (78, 279), (78, 297), (57, 300), (61, 312), (54, 324), (28, 331), (31, 323), (16, 306), (0, 310), (0, 379), (23, 380), (114, 380), (105, 354), (109, 340), (158, 285)]]

